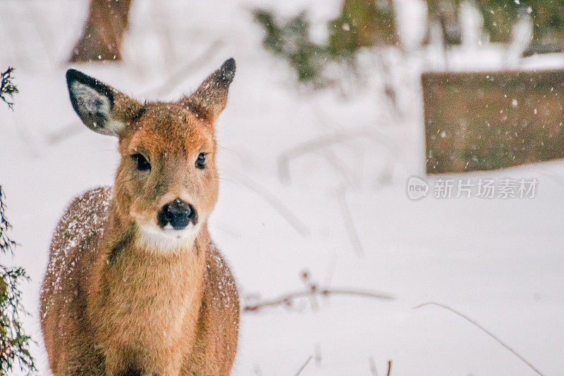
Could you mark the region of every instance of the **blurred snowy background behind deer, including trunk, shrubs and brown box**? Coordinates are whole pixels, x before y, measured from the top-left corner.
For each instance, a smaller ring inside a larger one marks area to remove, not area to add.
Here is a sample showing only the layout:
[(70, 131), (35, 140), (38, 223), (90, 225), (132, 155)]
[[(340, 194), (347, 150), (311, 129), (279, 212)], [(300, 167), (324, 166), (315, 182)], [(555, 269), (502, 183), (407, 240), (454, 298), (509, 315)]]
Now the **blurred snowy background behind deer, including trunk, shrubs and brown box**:
[(210, 233), (244, 308), (233, 375), (564, 372), (563, 1), (1, 0), (1, 264), (30, 277), (37, 374), (51, 233), (118, 163), (66, 69), (164, 101), (231, 56)]

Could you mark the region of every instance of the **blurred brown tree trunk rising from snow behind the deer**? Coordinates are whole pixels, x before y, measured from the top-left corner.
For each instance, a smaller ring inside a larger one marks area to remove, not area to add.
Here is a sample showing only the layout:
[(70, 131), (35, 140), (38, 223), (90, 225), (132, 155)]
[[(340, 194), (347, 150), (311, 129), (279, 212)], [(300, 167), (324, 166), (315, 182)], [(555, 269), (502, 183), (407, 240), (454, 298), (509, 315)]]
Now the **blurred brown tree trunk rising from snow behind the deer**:
[(130, 6), (131, 0), (90, 0), (82, 37), (76, 42), (69, 61), (121, 60)]

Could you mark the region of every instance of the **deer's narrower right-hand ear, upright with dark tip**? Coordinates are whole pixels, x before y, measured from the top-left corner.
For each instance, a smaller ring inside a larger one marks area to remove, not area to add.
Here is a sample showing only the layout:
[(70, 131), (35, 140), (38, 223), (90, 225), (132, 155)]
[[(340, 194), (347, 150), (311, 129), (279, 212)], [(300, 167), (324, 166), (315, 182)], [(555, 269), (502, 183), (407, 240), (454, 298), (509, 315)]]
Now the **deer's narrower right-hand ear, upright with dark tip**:
[(229, 58), (221, 68), (209, 75), (192, 95), (180, 99), (180, 104), (198, 117), (214, 123), (227, 104), (227, 94), (233, 77), (235, 59)]

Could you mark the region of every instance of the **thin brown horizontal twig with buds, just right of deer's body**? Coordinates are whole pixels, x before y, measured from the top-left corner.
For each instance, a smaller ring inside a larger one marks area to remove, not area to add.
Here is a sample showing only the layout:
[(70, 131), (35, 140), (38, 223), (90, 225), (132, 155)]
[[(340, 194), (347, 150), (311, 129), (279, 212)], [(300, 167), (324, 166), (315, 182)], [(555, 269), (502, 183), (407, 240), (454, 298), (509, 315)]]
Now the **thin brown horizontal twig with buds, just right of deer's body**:
[(392, 300), (394, 299), (391, 295), (380, 294), (377, 292), (369, 292), (363, 290), (355, 289), (314, 289), (314, 290), (304, 290), (298, 292), (290, 292), (288, 294), (283, 294), (276, 299), (259, 301), (254, 304), (247, 304), (243, 307), (243, 312), (255, 312), (262, 308), (274, 307), (274, 306), (291, 306), (294, 299), (303, 298), (305, 296), (331, 296), (331, 295), (344, 295), (344, 296), (358, 296), (362, 298), (372, 298), (372, 299), (384, 299)]

